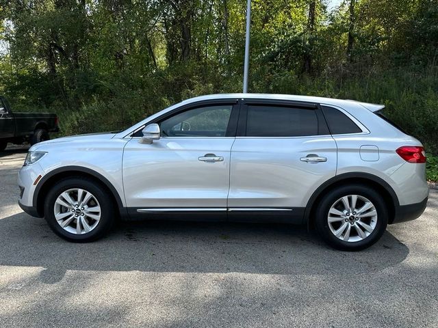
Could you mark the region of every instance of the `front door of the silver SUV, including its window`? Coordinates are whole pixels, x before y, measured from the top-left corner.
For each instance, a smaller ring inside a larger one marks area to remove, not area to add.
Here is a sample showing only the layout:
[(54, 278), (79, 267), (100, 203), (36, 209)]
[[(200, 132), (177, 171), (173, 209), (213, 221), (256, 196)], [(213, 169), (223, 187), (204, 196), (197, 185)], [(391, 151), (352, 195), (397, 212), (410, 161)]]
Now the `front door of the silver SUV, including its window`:
[[(220, 211), (226, 215), (236, 102), (182, 109), (159, 124), (151, 144), (133, 137), (123, 155), (123, 183), (131, 212)], [(235, 127), (234, 127), (235, 129)]]

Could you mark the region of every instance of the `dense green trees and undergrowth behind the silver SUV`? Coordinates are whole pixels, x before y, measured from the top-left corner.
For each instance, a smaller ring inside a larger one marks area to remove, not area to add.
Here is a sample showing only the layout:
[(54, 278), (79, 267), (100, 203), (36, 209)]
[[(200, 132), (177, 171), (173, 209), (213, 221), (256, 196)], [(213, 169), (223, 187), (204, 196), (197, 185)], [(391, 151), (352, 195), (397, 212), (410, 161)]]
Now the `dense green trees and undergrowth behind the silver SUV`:
[[(384, 103), (438, 152), (437, 0), (253, 0), (250, 92)], [(62, 133), (240, 92), (246, 0), (0, 0), (0, 94)]]

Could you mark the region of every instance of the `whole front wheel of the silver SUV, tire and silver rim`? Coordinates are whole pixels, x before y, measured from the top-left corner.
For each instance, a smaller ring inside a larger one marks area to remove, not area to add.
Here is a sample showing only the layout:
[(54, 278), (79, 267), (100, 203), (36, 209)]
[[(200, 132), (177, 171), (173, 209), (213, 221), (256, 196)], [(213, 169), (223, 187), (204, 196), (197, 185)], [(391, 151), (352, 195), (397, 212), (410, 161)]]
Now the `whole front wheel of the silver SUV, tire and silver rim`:
[(94, 241), (114, 223), (112, 197), (88, 178), (67, 178), (47, 194), (44, 217), (58, 236), (73, 242)]

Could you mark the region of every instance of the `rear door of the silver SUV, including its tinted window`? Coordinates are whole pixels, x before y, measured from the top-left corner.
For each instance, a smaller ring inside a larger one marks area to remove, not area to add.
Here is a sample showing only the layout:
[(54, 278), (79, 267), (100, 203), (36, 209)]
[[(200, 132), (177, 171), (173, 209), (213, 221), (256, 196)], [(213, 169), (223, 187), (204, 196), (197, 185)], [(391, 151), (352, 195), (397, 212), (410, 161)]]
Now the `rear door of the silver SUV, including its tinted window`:
[(336, 165), (336, 143), (319, 105), (244, 100), (231, 149), (229, 219), (254, 221), (249, 213), (257, 210), (257, 217), (299, 221)]

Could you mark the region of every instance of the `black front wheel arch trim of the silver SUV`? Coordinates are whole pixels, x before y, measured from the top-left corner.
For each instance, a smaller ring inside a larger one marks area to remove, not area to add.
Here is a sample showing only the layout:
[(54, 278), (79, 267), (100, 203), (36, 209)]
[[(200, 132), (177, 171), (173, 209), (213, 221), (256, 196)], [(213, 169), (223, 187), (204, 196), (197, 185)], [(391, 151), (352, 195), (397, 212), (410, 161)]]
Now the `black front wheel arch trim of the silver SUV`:
[(105, 178), (102, 174), (92, 170), (88, 169), (87, 167), (79, 167), (79, 166), (66, 166), (61, 167), (59, 169), (54, 169), (53, 171), (49, 172), (45, 176), (43, 176), (36, 186), (36, 189), (34, 191), (34, 197), (32, 200), (33, 206), (36, 208), (39, 215), (42, 217), (44, 216), (44, 201), (43, 197), (47, 194), (47, 191), (53, 185), (63, 178), (70, 178), (70, 177), (77, 177), (77, 176), (83, 176), (87, 178), (91, 178), (92, 180), (98, 182), (101, 184), (102, 187), (107, 189), (107, 191), (110, 192), (110, 195), (112, 195), (112, 198), (114, 202), (116, 202), (118, 206), (118, 210), (120, 212), (120, 215), (125, 215), (123, 206), (123, 202), (120, 198), (120, 195), (118, 194), (116, 188), (111, 184), (111, 182)]

